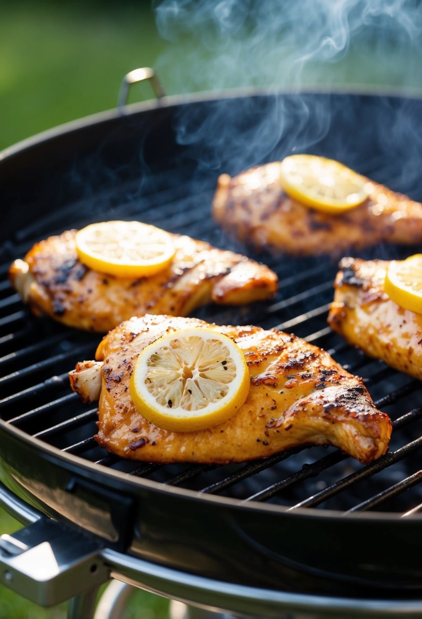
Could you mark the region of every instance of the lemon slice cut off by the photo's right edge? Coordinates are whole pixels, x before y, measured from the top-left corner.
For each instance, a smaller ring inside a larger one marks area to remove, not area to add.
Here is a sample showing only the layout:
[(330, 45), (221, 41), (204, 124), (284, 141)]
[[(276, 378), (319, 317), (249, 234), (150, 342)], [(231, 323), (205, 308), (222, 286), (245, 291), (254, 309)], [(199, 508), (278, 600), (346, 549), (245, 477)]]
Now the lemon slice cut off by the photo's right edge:
[(422, 254), (389, 262), (384, 290), (400, 307), (422, 314)]

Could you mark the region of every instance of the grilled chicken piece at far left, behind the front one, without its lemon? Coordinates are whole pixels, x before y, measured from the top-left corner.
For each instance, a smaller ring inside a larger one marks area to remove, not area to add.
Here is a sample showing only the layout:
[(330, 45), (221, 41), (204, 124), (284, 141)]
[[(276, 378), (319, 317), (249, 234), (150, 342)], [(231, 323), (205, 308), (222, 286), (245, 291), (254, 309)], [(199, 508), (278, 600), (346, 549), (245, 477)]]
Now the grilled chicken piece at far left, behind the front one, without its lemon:
[(25, 261), (15, 260), (9, 269), (33, 313), (67, 326), (106, 332), (147, 312), (186, 316), (210, 301), (239, 305), (277, 290), (277, 275), (264, 264), (181, 235), (171, 235), (176, 256), (164, 271), (140, 279), (104, 275), (79, 262), (75, 233), (36, 243)]

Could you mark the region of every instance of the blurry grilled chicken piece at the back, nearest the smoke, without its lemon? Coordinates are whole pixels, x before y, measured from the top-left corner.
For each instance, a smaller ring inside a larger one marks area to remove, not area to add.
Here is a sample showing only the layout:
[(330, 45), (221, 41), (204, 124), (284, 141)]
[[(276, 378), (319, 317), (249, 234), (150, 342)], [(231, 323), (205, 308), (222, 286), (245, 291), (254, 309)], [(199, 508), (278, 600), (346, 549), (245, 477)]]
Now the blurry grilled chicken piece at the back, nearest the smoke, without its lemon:
[(329, 215), (287, 196), (279, 181), (280, 162), (218, 179), (214, 219), (231, 235), (271, 253), (340, 256), (377, 243), (422, 241), (422, 204), (366, 181), (368, 199), (342, 215)]

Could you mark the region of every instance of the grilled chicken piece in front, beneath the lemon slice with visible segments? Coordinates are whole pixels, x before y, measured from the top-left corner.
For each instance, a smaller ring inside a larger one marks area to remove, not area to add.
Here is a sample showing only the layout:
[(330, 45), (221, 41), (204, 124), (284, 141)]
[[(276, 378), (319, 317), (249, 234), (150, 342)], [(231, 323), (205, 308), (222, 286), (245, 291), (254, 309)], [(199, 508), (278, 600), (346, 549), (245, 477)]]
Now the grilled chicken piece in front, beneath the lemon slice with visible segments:
[(209, 325), (194, 318), (132, 318), (108, 333), (97, 348), (100, 389), (90, 387), (84, 376), (85, 368), (92, 372), (93, 361), (69, 374), (72, 389), (85, 401), (99, 397), (95, 438), (108, 451), (147, 462), (226, 464), (303, 444), (333, 444), (361, 462), (387, 450), (389, 417), (374, 407), (360, 378), (295, 335), (254, 326), (210, 325), (237, 342), (251, 374), (248, 398), (233, 417), (196, 432), (157, 428), (131, 400), (134, 363), (158, 337), (192, 326)]

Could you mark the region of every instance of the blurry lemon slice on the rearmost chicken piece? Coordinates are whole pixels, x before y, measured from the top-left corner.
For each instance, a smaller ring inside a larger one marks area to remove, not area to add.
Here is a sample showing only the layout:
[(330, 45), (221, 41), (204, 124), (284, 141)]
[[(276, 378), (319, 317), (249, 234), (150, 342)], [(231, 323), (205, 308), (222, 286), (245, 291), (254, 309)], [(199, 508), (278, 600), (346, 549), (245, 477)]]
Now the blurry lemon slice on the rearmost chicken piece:
[(301, 204), (330, 214), (353, 209), (368, 197), (362, 176), (334, 159), (316, 155), (283, 159), (280, 183)]

